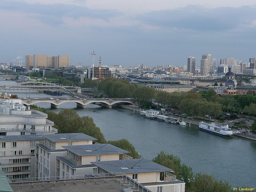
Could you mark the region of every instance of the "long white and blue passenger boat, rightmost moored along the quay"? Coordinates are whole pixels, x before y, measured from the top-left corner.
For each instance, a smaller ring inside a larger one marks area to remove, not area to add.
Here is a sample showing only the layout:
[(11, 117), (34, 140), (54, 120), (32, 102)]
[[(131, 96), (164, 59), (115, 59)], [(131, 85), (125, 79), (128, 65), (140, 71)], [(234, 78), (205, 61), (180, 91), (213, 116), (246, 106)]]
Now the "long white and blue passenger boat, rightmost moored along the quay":
[(199, 129), (202, 131), (210, 132), (222, 137), (234, 137), (234, 132), (231, 128), (227, 126), (217, 126), (214, 123), (205, 123), (205, 122), (200, 122), (199, 123)]

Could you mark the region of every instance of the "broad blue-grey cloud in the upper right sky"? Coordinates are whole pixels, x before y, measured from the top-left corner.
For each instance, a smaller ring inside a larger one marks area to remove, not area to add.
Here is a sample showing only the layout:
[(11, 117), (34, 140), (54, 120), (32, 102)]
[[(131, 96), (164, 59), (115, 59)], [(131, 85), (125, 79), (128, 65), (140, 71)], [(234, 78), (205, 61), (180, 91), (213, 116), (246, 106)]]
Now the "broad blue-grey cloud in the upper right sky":
[(246, 27), (256, 19), (256, 8), (207, 8), (200, 5), (188, 5), (184, 8), (152, 11), (135, 17), (147, 24), (200, 31), (223, 31)]

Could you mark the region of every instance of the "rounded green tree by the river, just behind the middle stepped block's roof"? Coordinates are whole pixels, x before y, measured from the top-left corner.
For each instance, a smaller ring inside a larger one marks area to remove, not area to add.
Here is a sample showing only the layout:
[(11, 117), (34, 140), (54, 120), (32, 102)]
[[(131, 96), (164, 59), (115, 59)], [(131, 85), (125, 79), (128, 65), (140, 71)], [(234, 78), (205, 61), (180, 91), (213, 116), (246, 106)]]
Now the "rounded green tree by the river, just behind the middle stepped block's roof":
[(120, 139), (120, 140), (108, 140), (108, 143), (129, 151), (127, 155), (132, 156), (134, 159), (141, 158), (141, 155), (138, 154), (135, 147), (127, 140), (127, 139)]

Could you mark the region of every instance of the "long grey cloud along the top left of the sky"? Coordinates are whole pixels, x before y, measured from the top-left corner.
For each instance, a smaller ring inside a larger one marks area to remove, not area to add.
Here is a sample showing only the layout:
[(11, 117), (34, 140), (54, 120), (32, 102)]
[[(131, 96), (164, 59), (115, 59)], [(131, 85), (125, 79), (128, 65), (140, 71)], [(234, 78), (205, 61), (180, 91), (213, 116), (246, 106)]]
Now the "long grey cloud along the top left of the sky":
[(28, 4), (14, 1), (0, 1), (0, 10), (15, 11), (35, 14), (31, 17), (37, 18), (47, 24), (61, 24), (62, 16), (78, 19), (80, 17), (92, 17), (109, 20), (110, 17), (121, 15), (116, 10), (89, 9), (87, 7), (68, 4)]

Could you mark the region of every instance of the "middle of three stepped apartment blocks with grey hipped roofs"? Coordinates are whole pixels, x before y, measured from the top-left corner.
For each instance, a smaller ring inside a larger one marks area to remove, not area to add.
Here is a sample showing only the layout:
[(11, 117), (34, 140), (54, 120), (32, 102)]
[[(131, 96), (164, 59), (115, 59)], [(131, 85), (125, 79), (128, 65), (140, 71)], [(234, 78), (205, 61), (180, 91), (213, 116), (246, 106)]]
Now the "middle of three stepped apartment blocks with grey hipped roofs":
[(67, 155), (56, 157), (56, 176), (59, 179), (71, 179), (74, 175), (76, 178), (84, 178), (85, 174), (96, 174), (96, 166), (92, 161), (122, 160), (124, 154), (129, 153), (111, 144), (62, 147), (67, 149)]

